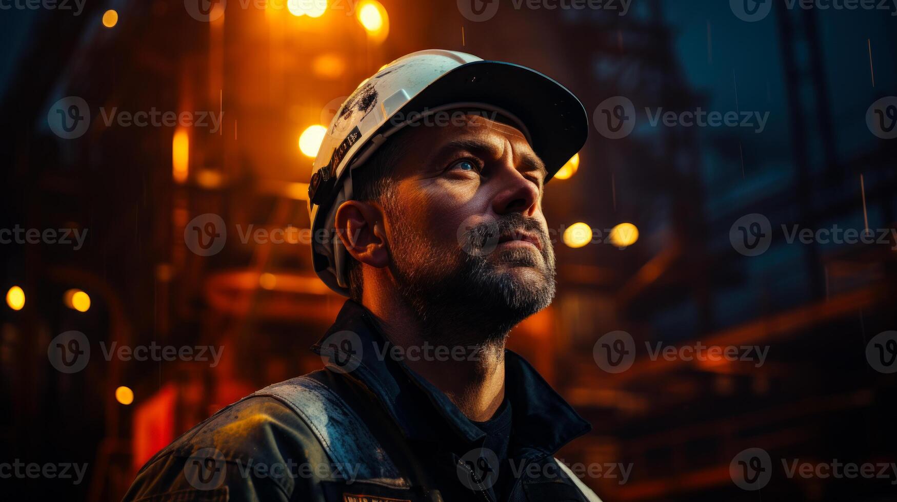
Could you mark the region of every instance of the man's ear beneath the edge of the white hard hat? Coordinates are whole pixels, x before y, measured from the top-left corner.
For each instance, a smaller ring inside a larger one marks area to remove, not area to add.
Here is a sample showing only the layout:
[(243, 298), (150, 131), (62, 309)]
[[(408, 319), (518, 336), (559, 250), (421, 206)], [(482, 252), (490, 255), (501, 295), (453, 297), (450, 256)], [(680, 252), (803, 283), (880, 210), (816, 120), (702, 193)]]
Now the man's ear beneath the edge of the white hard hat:
[(336, 209), (336, 235), (353, 258), (362, 264), (383, 268), (389, 264), (383, 212), (359, 201), (345, 201)]

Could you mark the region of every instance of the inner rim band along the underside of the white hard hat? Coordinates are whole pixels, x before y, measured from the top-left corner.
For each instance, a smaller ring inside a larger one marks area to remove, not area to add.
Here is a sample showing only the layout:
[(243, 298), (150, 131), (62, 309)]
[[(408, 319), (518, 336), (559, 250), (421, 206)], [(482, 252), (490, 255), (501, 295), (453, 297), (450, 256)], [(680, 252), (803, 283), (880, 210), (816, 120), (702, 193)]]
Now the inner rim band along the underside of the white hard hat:
[[(354, 169), (359, 169), (364, 162), (370, 159), (370, 156), (374, 154), (374, 151), (377, 151), (379, 147), (386, 143), (389, 139), (389, 136), (396, 134), (400, 129), (405, 127), (406, 125), (414, 124), (422, 120), (423, 118), (430, 117), (437, 113), (441, 113), (448, 110), (461, 110), (463, 111), (466, 108), (468, 111), (491, 111), (497, 114), (496, 118), (501, 118), (503, 122), (513, 125), (517, 127), (521, 133), (523, 133), (524, 137), (527, 138), (527, 143), (532, 144), (533, 140), (529, 135), (529, 129), (527, 129), (527, 125), (523, 123), (516, 115), (512, 114), (508, 110), (500, 107), (496, 107), (494, 105), (490, 105), (488, 103), (479, 103), (474, 101), (464, 101), (458, 103), (449, 103), (448, 105), (442, 105), (436, 108), (428, 108), (423, 112), (411, 112), (408, 115), (414, 116), (405, 120), (397, 125), (393, 125), (387, 131), (377, 134), (374, 137), (370, 138), (369, 142), (363, 147), (363, 150), (355, 156), (352, 162), (349, 164), (349, 172), (346, 173), (347, 176), (344, 178), (342, 187), (340, 188), (339, 194), (336, 195), (336, 199), (334, 203), (330, 206), (330, 213), (327, 215), (327, 220), (330, 222), (335, 221), (336, 217), (336, 209), (339, 208), (340, 204), (345, 201), (351, 200), (353, 196), (352, 189), (352, 171)], [(331, 228), (334, 228), (335, 225), (330, 225)], [(348, 288), (349, 281), (345, 278), (345, 265), (348, 262), (348, 254), (349, 252), (343, 246), (343, 241), (334, 236), (333, 239), (333, 264), (334, 264), (334, 275), (336, 276), (336, 283), (339, 284), (341, 288)]]

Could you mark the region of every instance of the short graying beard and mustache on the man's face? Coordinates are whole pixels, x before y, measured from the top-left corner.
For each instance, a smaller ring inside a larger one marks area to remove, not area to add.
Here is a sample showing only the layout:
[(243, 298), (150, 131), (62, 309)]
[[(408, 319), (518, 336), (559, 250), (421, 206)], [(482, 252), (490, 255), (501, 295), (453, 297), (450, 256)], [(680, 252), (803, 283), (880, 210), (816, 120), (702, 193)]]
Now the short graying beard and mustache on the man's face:
[[(498, 221), (498, 228), (528, 229), (542, 239), (542, 259), (515, 247), (489, 249), (495, 231), (485, 226), (469, 230), (461, 248), (437, 250), (420, 233), (405, 229), (396, 219), (390, 243), (391, 271), (400, 294), (423, 326), (422, 339), (449, 347), (488, 347), (505, 342), (512, 327), (551, 304), (554, 298), (554, 251), (541, 226), (518, 213)], [(467, 251), (465, 251), (466, 249)], [(492, 261), (527, 266), (539, 278), (520, 278), (501, 271)], [(495, 258), (499, 258), (495, 260)]]

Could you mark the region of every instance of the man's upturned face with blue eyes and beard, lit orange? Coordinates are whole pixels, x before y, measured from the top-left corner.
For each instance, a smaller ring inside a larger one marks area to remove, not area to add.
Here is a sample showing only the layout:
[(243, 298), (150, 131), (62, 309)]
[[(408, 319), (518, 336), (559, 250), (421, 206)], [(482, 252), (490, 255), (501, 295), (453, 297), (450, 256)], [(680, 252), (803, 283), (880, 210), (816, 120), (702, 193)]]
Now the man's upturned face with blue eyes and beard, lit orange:
[(544, 165), (512, 126), (452, 122), (402, 138), (410, 146), (385, 204), (391, 267), (422, 318), (482, 312), (507, 331), (554, 295)]

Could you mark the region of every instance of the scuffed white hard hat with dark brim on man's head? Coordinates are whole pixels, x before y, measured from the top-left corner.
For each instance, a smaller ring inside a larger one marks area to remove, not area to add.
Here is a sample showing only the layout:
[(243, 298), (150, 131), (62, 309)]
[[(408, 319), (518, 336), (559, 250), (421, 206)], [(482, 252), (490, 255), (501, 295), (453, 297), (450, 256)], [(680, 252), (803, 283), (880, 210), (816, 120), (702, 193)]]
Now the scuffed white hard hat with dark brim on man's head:
[(406, 124), (396, 117), (462, 107), (497, 111), (517, 125), (548, 169), (546, 182), (588, 136), (582, 103), (535, 70), (440, 49), (396, 59), (345, 100), (312, 168), (311, 253), (315, 273), (331, 290), (349, 296), (345, 264), (350, 258), (335, 235), (334, 219), (336, 208), (353, 197), (353, 169), (363, 169), (370, 154)]

